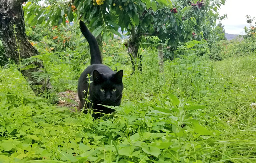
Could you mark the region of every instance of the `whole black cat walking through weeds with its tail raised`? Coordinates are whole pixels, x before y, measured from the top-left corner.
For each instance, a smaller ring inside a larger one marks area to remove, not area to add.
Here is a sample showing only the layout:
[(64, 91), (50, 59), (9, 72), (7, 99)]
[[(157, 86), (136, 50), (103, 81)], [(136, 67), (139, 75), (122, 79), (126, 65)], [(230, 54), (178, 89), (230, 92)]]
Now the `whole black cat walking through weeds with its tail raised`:
[[(94, 112), (102, 112), (109, 114), (113, 112), (113, 109), (106, 108), (102, 105), (119, 106), (122, 98), (123, 91), (123, 70), (118, 72), (112, 71), (108, 66), (102, 64), (100, 55), (100, 49), (95, 37), (88, 30), (84, 22), (80, 20), (80, 29), (84, 37), (89, 43), (91, 53), (91, 65), (88, 66), (81, 74), (78, 80), (78, 97), (80, 99), (79, 109), (82, 110), (85, 107), (84, 112), (87, 113), (87, 109), (92, 108)], [(87, 74), (90, 74), (90, 83)], [(88, 91), (89, 87), (89, 93)], [(85, 93), (84, 93), (85, 91)], [(88, 99), (91, 103), (87, 102), (84, 98), (89, 94)], [(98, 105), (102, 104), (102, 105)], [(93, 114), (94, 118), (98, 118), (101, 114)]]

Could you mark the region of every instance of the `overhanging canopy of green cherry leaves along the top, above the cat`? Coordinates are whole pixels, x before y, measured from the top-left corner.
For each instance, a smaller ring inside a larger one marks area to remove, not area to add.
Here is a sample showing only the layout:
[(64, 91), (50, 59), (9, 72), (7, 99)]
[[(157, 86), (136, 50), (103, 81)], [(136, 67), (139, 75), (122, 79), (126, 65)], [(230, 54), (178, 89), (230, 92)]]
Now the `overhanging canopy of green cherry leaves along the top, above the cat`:
[[(97, 3), (96, 5), (91, 0), (55, 3), (45, 1), (49, 6), (28, 2), (24, 10), (26, 20), (29, 24), (32, 23), (31, 26), (36, 23), (51, 23), (54, 26), (60, 26), (62, 23), (66, 26), (66, 19), (76, 24), (77, 20), (82, 17), (93, 35), (102, 37), (105, 42), (110, 38), (113, 39), (114, 34), (121, 36), (117, 32), (119, 28), (122, 32), (127, 31), (131, 35), (130, 39), (134, 38), (133, 41), (137, 47), (143, 40), (141, 39), (143, 33), (158, 35), (163, 43), (168, 41), (167, 57), (169, 58), (173, 56), (180, 43), (190, 39), (204, 38), (209, 40), (209, 43), (216, 41), (213, 36), (216, 37), (218, 30), (212, 30), (212, 27), (216, 25), (217, 19), (226, 18), (226, 15), (220, 16), (217, 12), (220, 6), (225, 4), (225, 0), (200, 1), (202, 6), (193, 6), (194, 2), (189, 2), (184, 0), (109, 0), (104, 1), (104, 4)], [(193, 32), (202, 32), (203, 35), (192, 37)]]

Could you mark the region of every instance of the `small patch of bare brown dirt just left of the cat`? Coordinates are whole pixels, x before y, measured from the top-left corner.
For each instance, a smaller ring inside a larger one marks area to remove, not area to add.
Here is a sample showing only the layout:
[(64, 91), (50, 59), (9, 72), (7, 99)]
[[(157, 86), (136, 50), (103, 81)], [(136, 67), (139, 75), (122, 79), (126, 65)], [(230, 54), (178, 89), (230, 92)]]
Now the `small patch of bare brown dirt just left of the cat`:
[(58, 106), (68, 107), (70, 110), (75, 111), (74, 107), (78, 107), (79, 105), (79, 98), (77, 92), (74, 91), (66, 91), (58, 93), (59, 97), (59, 104)]

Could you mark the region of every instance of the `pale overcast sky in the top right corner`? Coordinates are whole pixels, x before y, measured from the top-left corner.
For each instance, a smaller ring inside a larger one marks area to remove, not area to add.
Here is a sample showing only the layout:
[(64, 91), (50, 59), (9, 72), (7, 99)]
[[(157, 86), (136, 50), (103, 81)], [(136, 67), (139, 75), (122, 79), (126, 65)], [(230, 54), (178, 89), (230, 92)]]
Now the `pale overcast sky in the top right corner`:
[(243, 34), (244, 26), (249, 27), (246, 23), (246, 15), (256, 17), (256, 0), (226, 0), (225, 6), (220, 7), (219, 13), (228, 16), (221, 21), (226, 33)]

